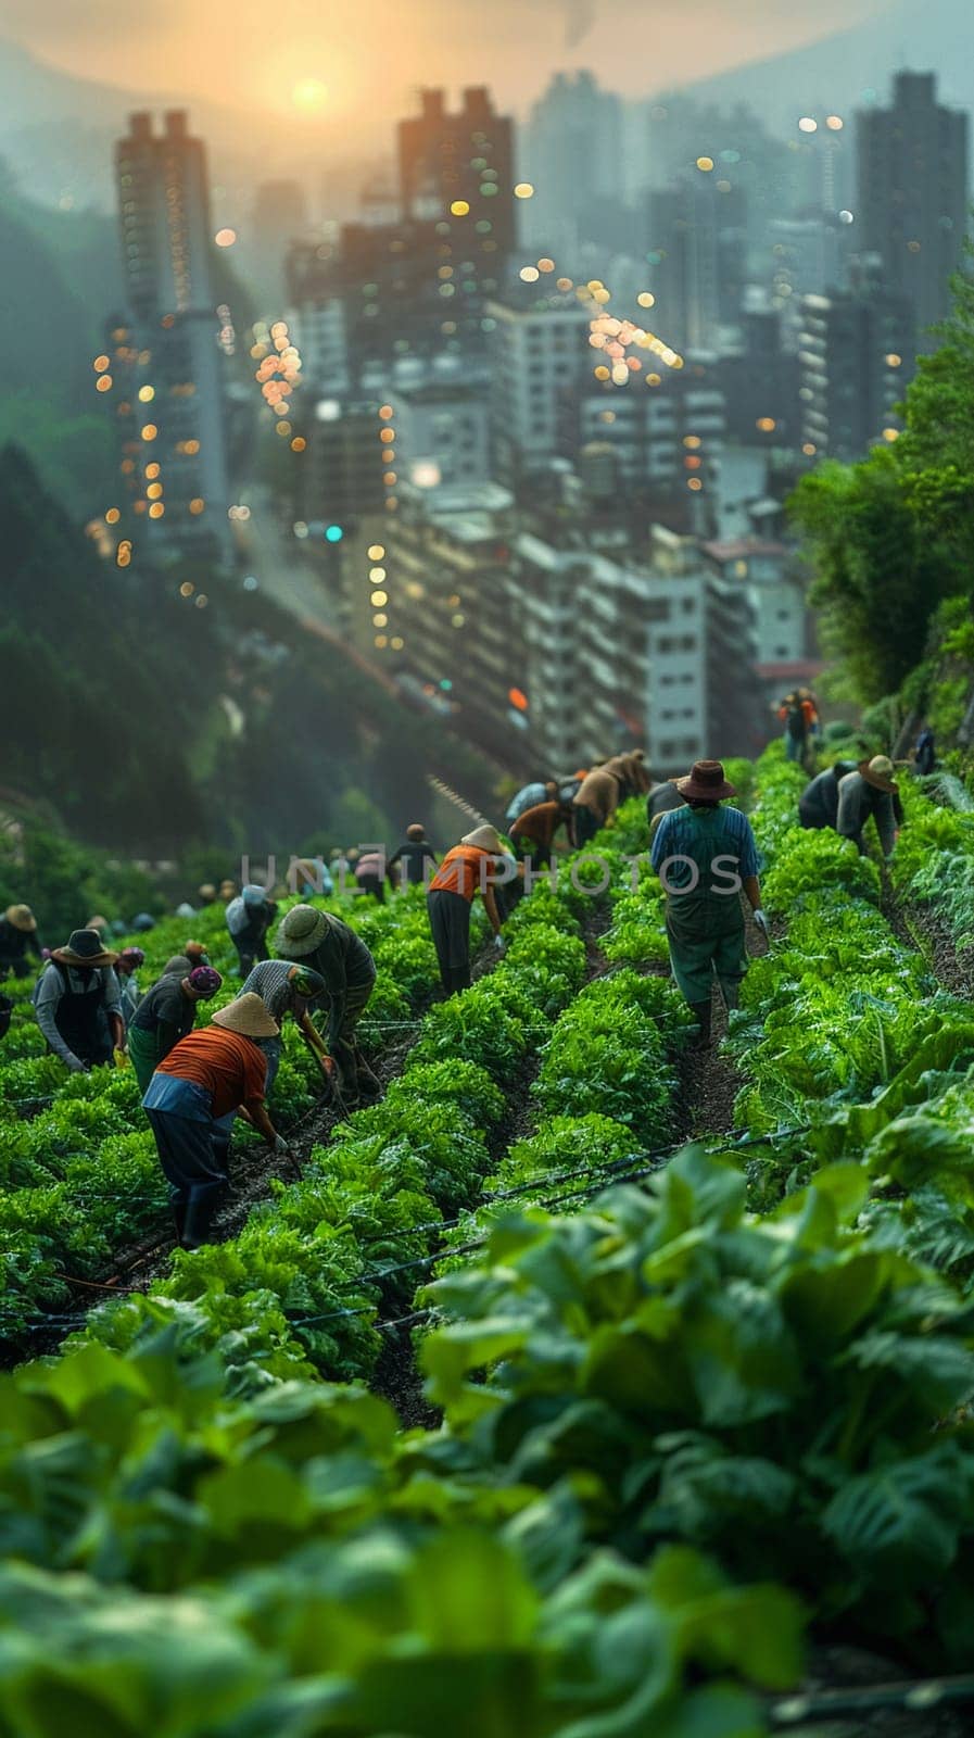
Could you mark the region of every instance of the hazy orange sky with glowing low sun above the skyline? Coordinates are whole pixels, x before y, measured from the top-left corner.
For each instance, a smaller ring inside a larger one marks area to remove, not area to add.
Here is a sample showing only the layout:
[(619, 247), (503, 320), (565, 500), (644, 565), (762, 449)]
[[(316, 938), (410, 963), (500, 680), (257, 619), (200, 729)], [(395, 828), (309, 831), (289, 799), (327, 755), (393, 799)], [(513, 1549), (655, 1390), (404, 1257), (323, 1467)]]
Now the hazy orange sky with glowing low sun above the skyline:
[[(141, 90), (340, 120), (420, 83), (491, 83), (524, 106), (552, 66), (644, 94), (880, 16), (891, 0), (0, 0), (43, 61)], [(389, 109), (385, 109), (389, 104)]]

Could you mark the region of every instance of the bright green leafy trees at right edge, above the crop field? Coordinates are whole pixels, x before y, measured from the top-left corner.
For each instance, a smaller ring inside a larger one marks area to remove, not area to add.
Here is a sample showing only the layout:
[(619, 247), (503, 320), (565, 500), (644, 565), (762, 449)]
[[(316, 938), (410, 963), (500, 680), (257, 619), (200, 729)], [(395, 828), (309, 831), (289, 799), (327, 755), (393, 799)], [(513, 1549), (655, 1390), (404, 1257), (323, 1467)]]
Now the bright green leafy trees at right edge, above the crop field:
[(918, 358), (899, 438), (818, 464), (790, 502), (833, 690), (873, 709), (899, 753), (925, 716), (957, 772), (974, 765), (972, 259), (939, 348)]

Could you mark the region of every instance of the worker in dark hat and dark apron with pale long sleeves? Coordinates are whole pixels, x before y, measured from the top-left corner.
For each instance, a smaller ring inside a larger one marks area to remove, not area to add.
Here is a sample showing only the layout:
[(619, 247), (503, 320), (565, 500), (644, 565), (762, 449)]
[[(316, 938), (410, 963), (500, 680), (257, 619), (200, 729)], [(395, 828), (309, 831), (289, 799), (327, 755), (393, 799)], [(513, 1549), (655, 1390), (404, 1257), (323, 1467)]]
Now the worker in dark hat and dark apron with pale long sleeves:
[(116, 959), (97, 930), (75, 930), (36, 980), (36, 1024), (73, 1074), (111, 1065), (113, 1051), (125, 1045), (118, 978), (111, 970)]

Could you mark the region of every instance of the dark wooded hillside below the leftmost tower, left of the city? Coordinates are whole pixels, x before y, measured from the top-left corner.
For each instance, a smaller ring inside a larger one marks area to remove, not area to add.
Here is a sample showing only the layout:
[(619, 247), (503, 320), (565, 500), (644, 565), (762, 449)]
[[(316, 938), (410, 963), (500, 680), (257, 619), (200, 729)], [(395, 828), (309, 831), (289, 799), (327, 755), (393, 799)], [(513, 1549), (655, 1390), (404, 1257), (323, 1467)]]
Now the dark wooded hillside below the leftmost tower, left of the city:
[(266, 600), (210, 586), (201, 610), (139, 560), (102, 561), (10, 447), (0, 547), (0, 784), (78, 838), (151, 857), (358, 843), (424, 813), (427, 772), (490, 801), (477, 756)]

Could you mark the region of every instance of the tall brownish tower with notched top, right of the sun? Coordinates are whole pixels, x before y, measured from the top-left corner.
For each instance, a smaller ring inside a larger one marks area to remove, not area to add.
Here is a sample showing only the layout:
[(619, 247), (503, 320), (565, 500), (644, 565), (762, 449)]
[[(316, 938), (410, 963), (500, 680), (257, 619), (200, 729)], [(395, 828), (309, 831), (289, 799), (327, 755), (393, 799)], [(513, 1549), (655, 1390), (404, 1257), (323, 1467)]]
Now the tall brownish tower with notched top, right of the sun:
[(443, 90), (422, 90), (420, 113), (399, 122), (398, 146), (403, 217), (438, 221), (462, 203), (483, 226), (481, 262), (505, 261), (516, 240), (514, 122), (495, 111), (490, 92), (464, 90), (453, 115)]

